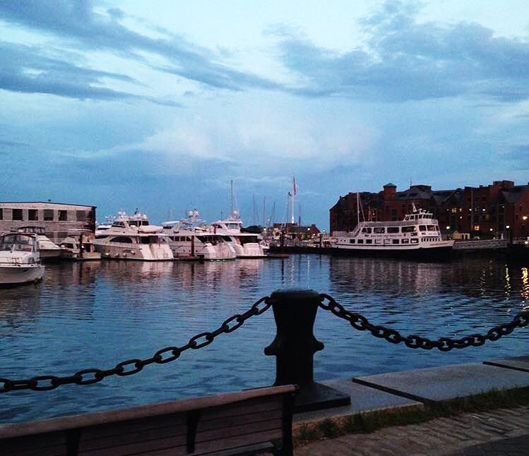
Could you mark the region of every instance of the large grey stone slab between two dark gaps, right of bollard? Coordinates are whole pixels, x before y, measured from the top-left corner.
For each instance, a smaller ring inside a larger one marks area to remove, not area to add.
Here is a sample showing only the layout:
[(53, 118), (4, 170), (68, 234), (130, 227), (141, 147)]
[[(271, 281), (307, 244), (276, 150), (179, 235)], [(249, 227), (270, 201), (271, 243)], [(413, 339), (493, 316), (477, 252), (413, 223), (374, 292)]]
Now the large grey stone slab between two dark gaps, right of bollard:
[(439, 402), (496, 389), (529, 386), (529, 373), (482, 363), (353, 378), (355, 383), (420, 402)]

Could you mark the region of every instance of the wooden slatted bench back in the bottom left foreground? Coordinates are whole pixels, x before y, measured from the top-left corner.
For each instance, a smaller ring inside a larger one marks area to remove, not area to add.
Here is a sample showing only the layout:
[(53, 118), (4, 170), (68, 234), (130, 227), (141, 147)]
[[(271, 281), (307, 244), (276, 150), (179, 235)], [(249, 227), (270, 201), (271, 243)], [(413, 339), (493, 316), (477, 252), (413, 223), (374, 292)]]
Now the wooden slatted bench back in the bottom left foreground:
[(3, 456), (292, 455), (295, 386), (0, 426)]

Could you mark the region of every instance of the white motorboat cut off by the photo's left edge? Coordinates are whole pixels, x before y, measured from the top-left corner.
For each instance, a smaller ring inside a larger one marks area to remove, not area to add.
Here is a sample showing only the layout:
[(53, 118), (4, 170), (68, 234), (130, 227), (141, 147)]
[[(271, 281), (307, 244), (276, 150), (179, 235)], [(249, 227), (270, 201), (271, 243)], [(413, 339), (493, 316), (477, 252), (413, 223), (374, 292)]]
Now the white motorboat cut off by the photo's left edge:
[(0, 285), (38, 282), (44, 277), (39, 241), (35, 234), (0, 235)]

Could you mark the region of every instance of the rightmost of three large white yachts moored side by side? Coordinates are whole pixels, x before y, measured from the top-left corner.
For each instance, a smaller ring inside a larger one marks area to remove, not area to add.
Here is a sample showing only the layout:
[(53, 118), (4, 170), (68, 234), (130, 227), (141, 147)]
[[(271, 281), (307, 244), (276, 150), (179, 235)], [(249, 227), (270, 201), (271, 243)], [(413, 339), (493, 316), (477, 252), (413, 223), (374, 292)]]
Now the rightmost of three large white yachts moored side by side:
[(242, 220), (237, 210), (226, 220), (218, 220), (213, 223), (210, 230), (220, 234), (235, 249), (237, 258), (263, 258), (266, 257), (266, 246), (261, 244), (261, 236), (254, 233), (242, 232)]

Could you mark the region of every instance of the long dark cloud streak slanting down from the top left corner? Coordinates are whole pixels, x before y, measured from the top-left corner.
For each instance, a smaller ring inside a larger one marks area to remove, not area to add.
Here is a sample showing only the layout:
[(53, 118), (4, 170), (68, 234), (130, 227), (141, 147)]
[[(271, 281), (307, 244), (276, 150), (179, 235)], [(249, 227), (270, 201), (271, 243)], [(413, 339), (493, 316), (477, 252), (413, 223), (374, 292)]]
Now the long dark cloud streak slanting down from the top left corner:
[[(278, 89), (280, 85), (266, 78), (251, 73), (237, 71), (221, 63), (225, 51), (213, 52), (199, 47), (172, 34), (167, 30), (151, 27), (151, 30), (162, 34), (162, 37), (148, 37), (134, 32), (120, 23), (124, 12), (111, 8), (108, 16), (93, 11), (90, 1), (39, 1), (20, 0), (12, 2), (0, 0), (0, 17), (2, 20), (73, 40), (76, 49), (100, 50), (125, 56), (128, 59), (140, 61), (157, 71), (174, 74), (209, 85), (214, 88), (243, 90), (244, 88)], [(66, 44), (65, 44), (66, 45)], [(167, 64), (150, 64), (148, 55), (162, 57)], [(22, 83), (23, 84), (23, 83)], [(7, 87), (8, 90), (11, 88)], [(90, 95), (85, 90), (81, 97)], [(110, 97), (112, 94), (94, 92), (97, 97)]]

